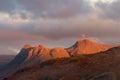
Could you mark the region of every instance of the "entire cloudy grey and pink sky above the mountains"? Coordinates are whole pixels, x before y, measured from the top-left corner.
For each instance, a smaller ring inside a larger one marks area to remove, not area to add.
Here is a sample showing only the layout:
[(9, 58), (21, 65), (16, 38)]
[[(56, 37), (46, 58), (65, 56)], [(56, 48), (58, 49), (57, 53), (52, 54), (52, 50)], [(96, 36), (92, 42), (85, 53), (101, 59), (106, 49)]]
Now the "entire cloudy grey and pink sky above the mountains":
[(120, 43), (120, 0), (0, 0), (0, 54), (84, 38)]

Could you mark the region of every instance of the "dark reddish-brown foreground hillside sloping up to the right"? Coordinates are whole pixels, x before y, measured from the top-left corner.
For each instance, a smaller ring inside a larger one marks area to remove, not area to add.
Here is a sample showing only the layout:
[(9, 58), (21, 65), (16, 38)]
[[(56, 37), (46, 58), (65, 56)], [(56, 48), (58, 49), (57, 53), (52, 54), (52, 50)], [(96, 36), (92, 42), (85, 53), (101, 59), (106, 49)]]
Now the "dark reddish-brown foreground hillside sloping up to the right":
[(4, 80), (120, 80), (120, 47), (54, 59), (26, 67)]

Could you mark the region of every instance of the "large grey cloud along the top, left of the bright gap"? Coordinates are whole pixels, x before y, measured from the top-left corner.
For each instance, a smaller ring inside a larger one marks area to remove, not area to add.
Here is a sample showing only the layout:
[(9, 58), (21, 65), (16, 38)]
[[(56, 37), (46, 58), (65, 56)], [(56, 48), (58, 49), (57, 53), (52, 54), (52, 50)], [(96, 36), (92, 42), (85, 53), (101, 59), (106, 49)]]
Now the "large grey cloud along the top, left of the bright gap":
[(89, 13), (92, 9), (85, 0), (18, 0), (34, 17), (68, 18)]

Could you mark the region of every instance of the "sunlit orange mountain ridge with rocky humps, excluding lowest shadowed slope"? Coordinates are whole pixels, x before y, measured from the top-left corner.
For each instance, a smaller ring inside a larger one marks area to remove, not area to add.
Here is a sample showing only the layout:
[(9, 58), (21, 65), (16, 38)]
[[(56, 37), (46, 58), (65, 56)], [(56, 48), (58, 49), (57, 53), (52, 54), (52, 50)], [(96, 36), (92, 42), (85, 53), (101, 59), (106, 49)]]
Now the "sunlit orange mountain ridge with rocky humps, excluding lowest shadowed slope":
[(113, 46), (111, 45), (99, 44), (88, 39), (78, 40), (72, 47), (69, 48), (48, 48), (44, 45), (32, 47), (31, 45), (26, 44), (18, 54), (18, 58), (19, 56), (22, 58), (23, 61), (21, 63), (28, 63), (32, 60), (34, 60), (34, 62), (43, 62), (53, 58), (70, 57), (74, 54), (95, 54), (97, 52), (106, 51), (112, 47)]

